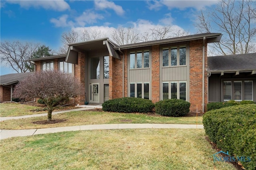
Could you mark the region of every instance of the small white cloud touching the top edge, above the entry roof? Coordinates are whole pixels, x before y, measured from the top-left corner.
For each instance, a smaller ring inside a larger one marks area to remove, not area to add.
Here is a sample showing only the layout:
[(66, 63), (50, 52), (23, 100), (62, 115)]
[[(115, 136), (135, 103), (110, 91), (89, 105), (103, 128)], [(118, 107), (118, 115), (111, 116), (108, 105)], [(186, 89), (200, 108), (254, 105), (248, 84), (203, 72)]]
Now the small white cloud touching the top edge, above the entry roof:
[(114, 10), (114, 12), (116, 12), (117, 15), (122, 16), (124, 14), (124, 10), (122, 8), (122, 6), (116, 5), (114, 2), (112, 1), (106, 1), (106, 0), (102, 0), (102, 1), (94, 1), (95, 4), (95, 8), (97, 10), (104, 10), (107, 8), (110, 8), (112, 10)]

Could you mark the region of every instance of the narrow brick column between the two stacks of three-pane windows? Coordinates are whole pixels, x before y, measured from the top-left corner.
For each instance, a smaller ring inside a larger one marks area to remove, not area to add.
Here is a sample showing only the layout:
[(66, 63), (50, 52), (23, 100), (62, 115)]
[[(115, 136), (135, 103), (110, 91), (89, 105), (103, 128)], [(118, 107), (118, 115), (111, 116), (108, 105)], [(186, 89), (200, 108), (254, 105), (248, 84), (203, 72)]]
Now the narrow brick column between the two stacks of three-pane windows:
[(152, 102), (160, 100), (160, 54), (159, 45), (152, 46)]

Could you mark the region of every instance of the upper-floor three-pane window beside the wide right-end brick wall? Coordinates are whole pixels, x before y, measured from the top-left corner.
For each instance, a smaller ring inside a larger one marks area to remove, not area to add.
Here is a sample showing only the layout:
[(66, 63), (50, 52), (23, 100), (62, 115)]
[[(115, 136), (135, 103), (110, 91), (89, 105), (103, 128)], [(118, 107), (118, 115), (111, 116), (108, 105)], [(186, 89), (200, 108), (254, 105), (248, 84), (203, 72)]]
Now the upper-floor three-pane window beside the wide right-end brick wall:
[(162, 49), (162, 66), (186, 65), (186, 46)]

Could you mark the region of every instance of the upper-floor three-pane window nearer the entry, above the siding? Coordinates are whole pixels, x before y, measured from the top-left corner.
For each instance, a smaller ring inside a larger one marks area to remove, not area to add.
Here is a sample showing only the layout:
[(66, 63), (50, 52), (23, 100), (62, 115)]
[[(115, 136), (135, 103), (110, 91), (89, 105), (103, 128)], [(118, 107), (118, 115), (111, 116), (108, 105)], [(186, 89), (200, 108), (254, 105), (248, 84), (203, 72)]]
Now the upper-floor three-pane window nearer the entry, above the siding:
[(131, 52), (130, 68), (149, 68), (149, 51)]

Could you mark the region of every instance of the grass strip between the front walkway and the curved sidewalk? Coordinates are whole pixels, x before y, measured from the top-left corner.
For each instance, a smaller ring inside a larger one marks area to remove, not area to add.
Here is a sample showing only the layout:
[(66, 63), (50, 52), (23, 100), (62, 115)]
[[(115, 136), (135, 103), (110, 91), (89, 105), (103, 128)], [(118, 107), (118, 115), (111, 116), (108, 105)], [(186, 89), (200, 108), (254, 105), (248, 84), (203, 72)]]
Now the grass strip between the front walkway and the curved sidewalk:
[[(66, 121), (38, 125), (32, 122), (47, 120), (46, 116), (26, 119), (6, 120), (0, 124), (1, 129), (38, 129), (49, 127), (63, 127), (75, 125), (113, 124), (113, 123), (162, 123), (162, 124), (196, 124), (196, 117), (165, 117), (140, 113), (109, 113), (98, 111), (72, 111), (52, 115), (52, 119), (66, 119)], [(198, 117), (198, 124), (202, 124), (202, 116)]]

